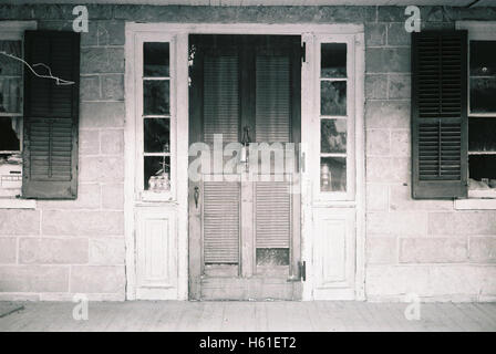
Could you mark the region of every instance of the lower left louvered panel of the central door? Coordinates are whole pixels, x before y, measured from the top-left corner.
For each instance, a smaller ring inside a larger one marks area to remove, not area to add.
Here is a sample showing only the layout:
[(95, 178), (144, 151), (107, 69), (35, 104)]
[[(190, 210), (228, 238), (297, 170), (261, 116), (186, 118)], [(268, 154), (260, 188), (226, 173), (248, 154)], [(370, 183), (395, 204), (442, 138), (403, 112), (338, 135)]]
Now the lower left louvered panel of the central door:
[(203, 189), (204, 263), (238, 263), (239, 183), (206, 181)]

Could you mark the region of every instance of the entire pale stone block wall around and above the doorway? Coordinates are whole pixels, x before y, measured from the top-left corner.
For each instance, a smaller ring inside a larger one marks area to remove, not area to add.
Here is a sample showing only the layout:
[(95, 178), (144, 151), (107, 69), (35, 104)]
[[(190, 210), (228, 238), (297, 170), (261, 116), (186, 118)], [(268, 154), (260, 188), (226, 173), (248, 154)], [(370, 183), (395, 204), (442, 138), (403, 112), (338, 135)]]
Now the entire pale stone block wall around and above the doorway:
[[(71, 30), (72, 6), (0, 6), (1, 20)], [(124, 24), (143, 22), (365, 25), (369, 300), (496, 299), (496, 210), (412, 200), (410, 35), (396, 7), (87, 6), (81, 43), (79, 198), (0, 210), (0, 300), (124, 300)], [(494, 20), (496, 8), (422, 8), (423, 29)]]

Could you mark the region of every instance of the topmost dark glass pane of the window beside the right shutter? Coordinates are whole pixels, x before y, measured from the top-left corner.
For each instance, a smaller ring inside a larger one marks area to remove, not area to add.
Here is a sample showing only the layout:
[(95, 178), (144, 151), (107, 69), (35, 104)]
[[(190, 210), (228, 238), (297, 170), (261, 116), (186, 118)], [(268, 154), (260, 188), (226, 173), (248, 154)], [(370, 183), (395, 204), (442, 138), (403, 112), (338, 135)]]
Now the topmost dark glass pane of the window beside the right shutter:
[(496, 75), (496, 41), (471, 41), (471, 76)]

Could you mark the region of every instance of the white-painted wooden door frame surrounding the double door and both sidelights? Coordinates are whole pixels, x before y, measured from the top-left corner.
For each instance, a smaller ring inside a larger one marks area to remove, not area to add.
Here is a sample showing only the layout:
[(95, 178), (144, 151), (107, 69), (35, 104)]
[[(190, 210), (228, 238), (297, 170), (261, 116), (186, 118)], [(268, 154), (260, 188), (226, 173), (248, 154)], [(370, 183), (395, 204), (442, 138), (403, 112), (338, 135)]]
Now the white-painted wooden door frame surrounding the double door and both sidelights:
[[(136, 169), (136, 87), (135, 51), (136, 37), (140, 33), (158, 33), (174, 38), (176, 65), (175, 91), (176, 129), (170, 132), (176, 142), (176, 190), (175, 198), (164, 207), (175, 214), (177, 228), (175, 244), (177, 250), (177, 292), (174, 299), (188, 299), (188, 35), (189, 34), (292, 34), (301, 35), (306, 43), (306, 62), (301, 67), (301, 142), (302, 153), (318, 154), (312, 145), (304, 144), (314, 139), (314, 126), (319, 118), (314, 112), (314, 100), (319, 92), (314, 90), (316, 58), (318, 53), (316, 37), (348, 34), (354, 38), (355, 48), (355, 183), (356, 183), (356, 237), (355, 237), (355, 281), (354, 299), (364, 300), (365, 283), (365, 134), (364, 134), (364, 27), (363, 24), (267, 24), (267, 23), (137, 23), (125, 24), (125, 167), (124, 167), (124, 235), (126, 243), (126, 299), (136, 299), (136, 236), (135, 236), (135, 169)], [(301, 175), (301, 257), (307, 262), (307, 281), (303, 282), (303, 300), (313, 300), (312, 282), (312, 178), (313, 174), (303, 169)]]

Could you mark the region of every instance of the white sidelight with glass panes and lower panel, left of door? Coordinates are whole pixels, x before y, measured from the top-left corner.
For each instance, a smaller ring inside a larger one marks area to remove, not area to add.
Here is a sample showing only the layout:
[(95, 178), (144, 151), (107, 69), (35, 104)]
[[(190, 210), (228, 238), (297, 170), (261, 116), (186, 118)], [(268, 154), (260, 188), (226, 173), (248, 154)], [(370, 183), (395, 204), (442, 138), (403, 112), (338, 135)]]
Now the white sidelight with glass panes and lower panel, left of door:
[(175, 40), (138, 33), (134, 45), (134, 295), (177, 299)]

